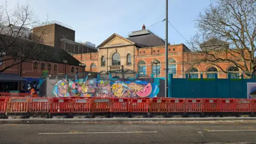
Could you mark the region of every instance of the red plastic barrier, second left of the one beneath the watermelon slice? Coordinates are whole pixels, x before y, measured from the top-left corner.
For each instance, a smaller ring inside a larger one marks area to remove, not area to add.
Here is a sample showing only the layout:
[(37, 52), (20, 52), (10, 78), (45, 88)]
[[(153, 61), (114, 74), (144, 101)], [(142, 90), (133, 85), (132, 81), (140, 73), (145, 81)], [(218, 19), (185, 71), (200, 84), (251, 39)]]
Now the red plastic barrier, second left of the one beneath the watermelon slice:
[(92, 113), (110, 113), (111, 98), (110, 99), (93, 99)]

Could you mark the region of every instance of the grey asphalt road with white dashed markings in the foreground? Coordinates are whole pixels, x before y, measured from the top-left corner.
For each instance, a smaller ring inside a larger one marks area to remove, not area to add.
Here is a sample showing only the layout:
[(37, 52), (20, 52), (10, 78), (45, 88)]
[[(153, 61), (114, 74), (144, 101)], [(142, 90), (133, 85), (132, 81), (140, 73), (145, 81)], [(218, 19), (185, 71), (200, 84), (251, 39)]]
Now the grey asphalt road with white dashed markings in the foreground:
[(251, 124), (1, 124), (0, 143), (256, 143)]

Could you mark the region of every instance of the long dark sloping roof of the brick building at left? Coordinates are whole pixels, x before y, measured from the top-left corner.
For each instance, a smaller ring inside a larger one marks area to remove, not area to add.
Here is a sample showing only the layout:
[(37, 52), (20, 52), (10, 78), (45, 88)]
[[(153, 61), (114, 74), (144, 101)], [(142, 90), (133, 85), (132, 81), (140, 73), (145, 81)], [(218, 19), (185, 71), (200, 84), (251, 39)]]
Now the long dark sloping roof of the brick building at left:
[[(5, 46), (3, 42), (0, 41), (0, 50), (3, 50), (4, 47)], [(74, 66), (79, 66), (79, 63), (81, 63), (63, 49), (44, 44), (38, 44), (35, 42), (27, 41), (25, 39), (19, 39), (18, 42), (15, 42), (10, 47), (7, 47), (5, 53), (6, 55), (15, 56), (19, 54), (21, 49), (23, 50), (22, 53), (31, 60), (49, 61), (56, 63), (65, 63), (63, 60), (67, 60), (68, 65)], [(32, 49), (33, 52), (31, 52)]]

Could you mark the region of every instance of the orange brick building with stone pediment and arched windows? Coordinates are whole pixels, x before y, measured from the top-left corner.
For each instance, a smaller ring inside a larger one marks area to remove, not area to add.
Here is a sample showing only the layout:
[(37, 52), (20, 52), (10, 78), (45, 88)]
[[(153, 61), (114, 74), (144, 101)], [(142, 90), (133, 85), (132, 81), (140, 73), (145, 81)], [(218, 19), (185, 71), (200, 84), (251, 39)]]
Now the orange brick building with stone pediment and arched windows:
[[(205, 44), (207, 47), (216, 45), (220, 41), (210, 39)], [(117, 34), (111, 35), (98, 46), (99, 51), (94, 53), (74, 54), (77, 60), (86, 65), (86, 71), (100, 73), (111, 73), (112, 77), (122, 71), (134, 71), (140, 77), (150, 77), (151, 74), (158, 77), (165, 76), (165, 41), (150, 30), (142, 26), (142, 30), (132, 31), (129, 37), (124, 38)], [(206, 49), (206, 48), (205, 48)], [(209, 48), (207, 48), (209, 49)], [(169, 73), (173, 77), (182, 78), (189, 74), (190, 78), (203, 77), (214, 78), (215, 73), (218, 78), (226, 78), (227, 74), (221, 72), (218, 67), (208, 63), (201, 63), (197, 66), (188, 65), (188, 55), (191, 51), (185, 44), (175, 44), (168, 46)], [(235, 75), (241, 75), (241, 71), (231, 63), (217, 63), (221, 68), (231, 71)]]

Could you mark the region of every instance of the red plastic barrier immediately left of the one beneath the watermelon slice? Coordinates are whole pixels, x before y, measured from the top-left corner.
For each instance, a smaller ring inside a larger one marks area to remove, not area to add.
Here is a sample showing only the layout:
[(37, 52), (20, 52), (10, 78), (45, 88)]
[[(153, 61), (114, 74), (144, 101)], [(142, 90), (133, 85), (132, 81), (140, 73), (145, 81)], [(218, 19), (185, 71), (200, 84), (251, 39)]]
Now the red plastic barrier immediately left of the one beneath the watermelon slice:
[(111, 112), (129, 112), (130, 99), (129, 98), (114, 98), (111, 100)]

